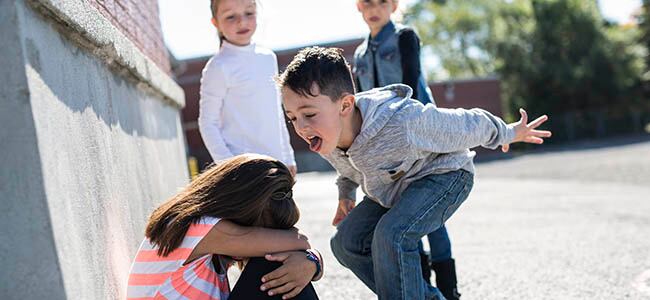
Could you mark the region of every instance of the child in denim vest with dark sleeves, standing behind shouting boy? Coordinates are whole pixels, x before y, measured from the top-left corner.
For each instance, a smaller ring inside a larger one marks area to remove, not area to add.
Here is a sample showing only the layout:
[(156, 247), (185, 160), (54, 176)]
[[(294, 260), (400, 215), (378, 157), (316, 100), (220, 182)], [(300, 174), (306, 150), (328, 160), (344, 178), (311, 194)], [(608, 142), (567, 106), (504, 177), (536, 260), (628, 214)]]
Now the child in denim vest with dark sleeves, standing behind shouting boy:
[[(435, 105), (431, 90), (420, 65), (420, 38), (415, 31), (391, 21), (397, 0), (357, 0), (357, 9), (368, 24), (370, 34), (354, 52), (352, 71), (361, 92), (395, 83), (408, 85), (411, 98), (422, 104)], [(349, 202), (348, 202), (349, 203)], [(430, 282), (431, 270), (436, 273), (436, 287), (447, 300), (460, 299), (457, 288), (456, 262), (451, 255), (447, 228), (427, 234), (430, 255), (420, 248), (422, 276)]]

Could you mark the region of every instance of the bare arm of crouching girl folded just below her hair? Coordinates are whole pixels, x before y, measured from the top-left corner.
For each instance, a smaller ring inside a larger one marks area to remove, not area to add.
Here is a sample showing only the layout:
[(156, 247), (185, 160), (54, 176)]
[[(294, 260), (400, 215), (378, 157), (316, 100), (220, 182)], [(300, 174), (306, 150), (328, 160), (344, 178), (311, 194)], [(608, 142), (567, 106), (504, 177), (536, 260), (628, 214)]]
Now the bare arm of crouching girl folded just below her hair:
[(240, 226), (220, 220), (194, 248), (193, 256), (222, 254), (258, 257), (268, 253), (306, 250), (307, 237), (293, 230)]

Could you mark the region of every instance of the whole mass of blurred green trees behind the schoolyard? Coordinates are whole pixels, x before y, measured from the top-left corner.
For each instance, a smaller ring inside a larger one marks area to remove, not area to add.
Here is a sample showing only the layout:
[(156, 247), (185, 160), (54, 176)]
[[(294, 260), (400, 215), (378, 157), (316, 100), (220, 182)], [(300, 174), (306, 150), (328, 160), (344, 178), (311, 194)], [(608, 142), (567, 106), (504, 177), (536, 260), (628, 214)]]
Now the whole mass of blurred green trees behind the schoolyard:
[(449, 77), (498, 75), (514, 117), (526, 107), (532, 114), (597, 111), (590, 114), (600, 120), (648, 103), (640, 93), (646, 16), (647, 9), (640, 30), (605, 22), (595, 0), (422, 0), (406, 21)]

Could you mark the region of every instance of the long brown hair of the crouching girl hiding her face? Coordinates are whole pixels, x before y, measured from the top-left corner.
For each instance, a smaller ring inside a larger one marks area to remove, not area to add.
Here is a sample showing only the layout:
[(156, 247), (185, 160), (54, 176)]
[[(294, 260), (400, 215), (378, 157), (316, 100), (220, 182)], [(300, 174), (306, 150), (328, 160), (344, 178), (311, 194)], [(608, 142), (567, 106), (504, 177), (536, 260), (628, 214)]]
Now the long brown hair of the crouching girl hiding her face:
[(300, 212), (293, 201), (293, 177), (278, 160), (242, 154), (212, 166), (151, 214), (145, 235), (166, 256), (180, 246), (192, 223), (203, 216), (242, 226), (293, 227)]

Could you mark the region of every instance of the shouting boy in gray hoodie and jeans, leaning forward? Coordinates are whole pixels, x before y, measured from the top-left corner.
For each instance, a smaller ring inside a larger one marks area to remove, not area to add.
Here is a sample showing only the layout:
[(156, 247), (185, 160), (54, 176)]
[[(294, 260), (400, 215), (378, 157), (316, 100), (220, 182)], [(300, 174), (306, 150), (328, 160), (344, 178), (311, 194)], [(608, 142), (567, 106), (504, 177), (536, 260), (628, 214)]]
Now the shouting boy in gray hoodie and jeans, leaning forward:
[[(420, 270), (418, 241), (468, 197), (475, 153), (514, 142), (541, 144), (547, 120), (506, 124), (481, 109), (442, 109), (389, 85), (354, 94), (339, 49), (311, 47), (278, 77), (287, 117), (310, 150), (338, 172), (331, 240), (337, 260), (379, 299), (444, 299)], [(365, 193), (355, 207), (357, 187)]]

